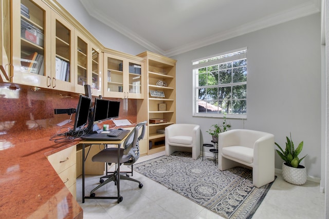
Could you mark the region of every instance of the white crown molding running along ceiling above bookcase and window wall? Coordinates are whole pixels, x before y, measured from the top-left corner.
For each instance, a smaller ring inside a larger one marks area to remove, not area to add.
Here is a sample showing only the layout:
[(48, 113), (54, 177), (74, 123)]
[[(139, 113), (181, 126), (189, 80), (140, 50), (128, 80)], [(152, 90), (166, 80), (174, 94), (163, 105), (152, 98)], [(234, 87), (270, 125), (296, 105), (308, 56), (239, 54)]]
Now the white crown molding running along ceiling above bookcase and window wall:
[(98, 21), (113, 28), (122, 35), (132, 39), (132, 41), (147, 48), (148, 50), (169, 57), (320, 12), (320, 4), (317, 4), (318, 0), (313, 0), (313, 2), (308, 2), (303, 5), (299, 5), (293, 9), (289, 9), (277, 14), (272, 14), (270, 16), (259, 19), (258, 21), (250, 22), (239, 27), (232, 28), (230, 30), (225, 30), (210, 37), (206, 37), (201, 40), (197, 40), (195, 42), (165, 51), (152, 44), (151, 42), (147, 41), (147, 39), (143, 38), (142, 36), (129, 30), (125, 26), (120, 25), (117, 21), (109, 19), (105, 15), (100, 14), (99, 11), (96, 11), (93, 7), (92, 1), (82, 0), (81, 3), (85, 7), (89, 15), (94, 17)]

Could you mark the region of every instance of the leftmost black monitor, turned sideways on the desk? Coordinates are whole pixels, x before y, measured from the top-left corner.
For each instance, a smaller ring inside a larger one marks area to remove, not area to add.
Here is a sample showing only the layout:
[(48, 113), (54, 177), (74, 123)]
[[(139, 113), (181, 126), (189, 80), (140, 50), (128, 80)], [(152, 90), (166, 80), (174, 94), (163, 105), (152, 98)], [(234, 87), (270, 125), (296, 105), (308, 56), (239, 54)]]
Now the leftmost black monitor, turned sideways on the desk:
[(89, 107), (92, 98), (80, 95), (73, 131), (79, 131), (88, 123)]

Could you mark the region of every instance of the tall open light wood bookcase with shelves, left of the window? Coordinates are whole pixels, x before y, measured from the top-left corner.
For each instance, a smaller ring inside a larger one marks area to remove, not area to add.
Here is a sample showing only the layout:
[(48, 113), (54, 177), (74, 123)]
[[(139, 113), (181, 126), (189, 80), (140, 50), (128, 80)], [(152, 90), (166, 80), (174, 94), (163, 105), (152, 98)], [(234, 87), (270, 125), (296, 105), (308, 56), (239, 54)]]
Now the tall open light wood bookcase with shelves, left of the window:
[[(145, 58), (147, 86), (144, 92), (148, 95), (137, 104), (139, 108), (137, 120), (149, 121), (148, 140), (152, 148), (148, 147), (148, 154), (153, 154), (165, 150), (165, 134), (158, 133), (157, 130), (163, 130), (176, 123), (176, 61), (149, 51), (138, 56)], [(150, 123), (150, 120), (156, 118), (166, 122)]]

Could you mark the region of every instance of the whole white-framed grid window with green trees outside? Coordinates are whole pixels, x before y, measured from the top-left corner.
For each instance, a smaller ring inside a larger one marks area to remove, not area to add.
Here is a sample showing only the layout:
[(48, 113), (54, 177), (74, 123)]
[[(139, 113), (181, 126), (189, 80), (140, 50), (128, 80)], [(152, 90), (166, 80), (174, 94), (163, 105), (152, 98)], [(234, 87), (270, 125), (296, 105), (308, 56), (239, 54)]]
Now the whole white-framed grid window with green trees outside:
[(193, 62), (193, 115), (246, 118), (247, 49)]

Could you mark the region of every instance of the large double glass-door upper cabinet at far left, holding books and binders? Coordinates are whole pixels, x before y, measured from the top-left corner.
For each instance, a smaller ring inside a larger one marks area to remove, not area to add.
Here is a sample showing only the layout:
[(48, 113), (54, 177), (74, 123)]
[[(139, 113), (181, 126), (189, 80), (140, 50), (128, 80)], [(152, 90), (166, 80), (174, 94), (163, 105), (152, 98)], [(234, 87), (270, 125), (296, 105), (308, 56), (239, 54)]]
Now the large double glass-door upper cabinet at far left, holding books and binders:
[(10, 82), (74, 92), (74, 28), (41, 0), (13, 0), (11, 12)]

